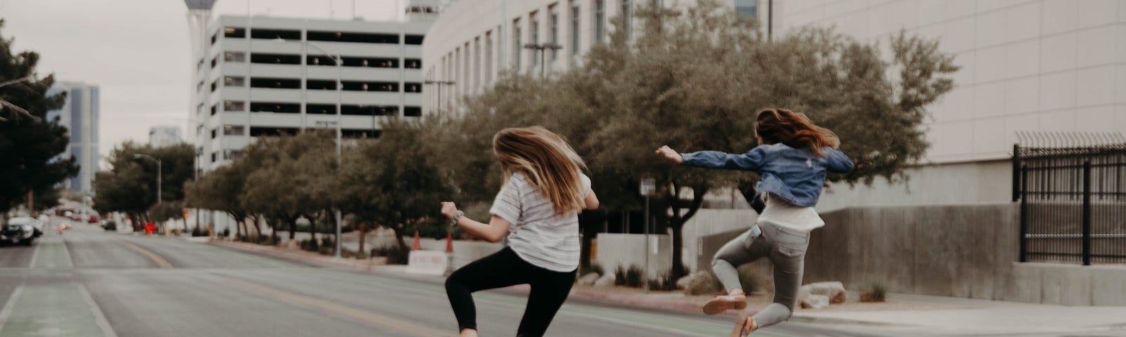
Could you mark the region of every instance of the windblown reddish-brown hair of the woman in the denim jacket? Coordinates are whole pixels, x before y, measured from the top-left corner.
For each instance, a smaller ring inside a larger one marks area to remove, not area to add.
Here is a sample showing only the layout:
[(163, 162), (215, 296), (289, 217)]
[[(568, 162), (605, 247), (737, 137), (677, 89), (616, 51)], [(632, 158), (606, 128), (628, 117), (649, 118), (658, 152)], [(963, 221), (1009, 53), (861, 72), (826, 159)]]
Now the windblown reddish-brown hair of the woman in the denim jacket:
[(786, 109), (763, 109), (756, 117), (754, 133), (767, 144), (781, 143), (789, 147), (808, 147), (810, 152), (820, 156), (825, 154), (822, 147), (837, 148), (840, 138), (833, 131), (816, 126), (805, 113)]

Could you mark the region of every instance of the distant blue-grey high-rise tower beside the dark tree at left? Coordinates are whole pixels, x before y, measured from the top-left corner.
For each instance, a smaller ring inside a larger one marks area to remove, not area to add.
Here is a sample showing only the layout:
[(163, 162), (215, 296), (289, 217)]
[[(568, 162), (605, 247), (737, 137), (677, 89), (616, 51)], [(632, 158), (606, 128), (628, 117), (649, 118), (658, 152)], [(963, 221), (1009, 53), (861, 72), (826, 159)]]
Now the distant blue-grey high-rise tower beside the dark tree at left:
[(97, 84), (81, 82), (56, 82), (47, 94), (66, 93), (66, 101), (59, 110), (47, 111), (47, 119), (59, 118), (59, 124), (70, 130), (70, 144), (63, 156), (74, 156), (79, 165), (78, 175), (66, 180), (70, 191), (83, 195), (93, 194), (93, 174), (98, 172), (98, 127), (100, 118), (99, 89)]

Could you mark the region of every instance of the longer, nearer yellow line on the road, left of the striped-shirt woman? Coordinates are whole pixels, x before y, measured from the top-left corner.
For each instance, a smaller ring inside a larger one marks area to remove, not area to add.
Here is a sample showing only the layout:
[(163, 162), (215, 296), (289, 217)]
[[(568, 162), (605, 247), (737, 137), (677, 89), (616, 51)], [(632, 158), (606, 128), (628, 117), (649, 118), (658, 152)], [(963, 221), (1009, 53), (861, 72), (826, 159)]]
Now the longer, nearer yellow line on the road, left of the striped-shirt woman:
[(411, 324), (411, 322), (408, 322), (408, 321), (404, 321), (404, 320), (399, 320), (399, 319), (394, 319), (394, 318), (391, 318), (391, 317), (381, 316), (381, 315), (377, 315), (377, 313), (374, 313), (374, 312), (370, 312), (370, 311), (364, 311), (364, 310), (359, 310), (359, 309), (355, 309), (355, 308), (349, 308), (349, 307), (340, 306), (340, 304), (337, 304), (337, 303), (332, 303), (332, 302), (328, 302), (328, 301), (323, 301), (323, 300), (319, 300), (319, 299), (314, 299), (314, 298), (303, 297), (303, 295), (289, 293), (289, 292), (286, 292), (286, 291), (277, 290), (277, 289), (274, 289), (274, 288), (265, 286), (265, 285), (258, 285), (258, 284), (248, 283), (248, 282), (243, 282), (243, 281), (239, 281), (239, 280), (231, 280), (231, 279), (225, 279), (224, 281), (226, 281), (227, 283), (234, 284), (236, 286), (240, 286), (240, 288), (243, 288), (243, 289), (247, 289), (247, 290), (251, 290), (251, 291), (261, 293), (261, 294), (267, 294), (267, 295), (271, 295), (271, 297), (275, 297), (275, 298), (285, 299), (285, 300), (288, 300), (291, 302), (296, 302), (296, 303), (301, 303), (301, 304), (305, 304), (305, 306), (310, 306), (310, 307), (316, 307), (316, 308), (324, 309), (324, 310), (328, 310), (328, 311), (331, 311), (331, 312), (336, 312), (336, 313), (339, 313), (339, 315), (342, 315), (342, 316), (348, 316), (348, 317), (351, 317), (351, 318), (356, 318), (356, 319), (360, 319), (360, 320), (364, 320), (364, 321), (373, 322), (373, 324), (376, 324), (376, 325), (381, 325), (381, 326), (384, 326), (384, 327), (388, 327), (388, 328), (392, 328), (392, 329), (395, 329), (395, 330), (400, 330), (400, 331), (403, 331), (403, 333), (408, 333), (408, 334), (412, 334), (412, 335), (415, 335), (415, 336), (421, 336), (421, 337), (444, 337), (444, 336), (450, 336), (450, 335), (453, 335), (453, 334), (447, 333), (447, 331), (427, 328), (427, 327), (414, 325), (414, 324)]

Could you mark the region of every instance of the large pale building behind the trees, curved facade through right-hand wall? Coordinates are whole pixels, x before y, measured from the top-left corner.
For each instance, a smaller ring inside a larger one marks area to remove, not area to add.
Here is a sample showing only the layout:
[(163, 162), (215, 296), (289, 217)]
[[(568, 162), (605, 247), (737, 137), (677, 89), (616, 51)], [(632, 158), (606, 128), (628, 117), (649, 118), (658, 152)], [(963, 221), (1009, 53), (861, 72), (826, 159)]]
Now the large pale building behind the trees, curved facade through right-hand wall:
[[(581, 64), (606, 40), (609, 19), (646, 0), (457, 1), (423, 44), (431, 83), (423, 110), (456, 108), (503, 70), (537, 73)], [(692, 6), (694, 0), (660, 1)], [(1002, 202), (1018, 131), (1126, 131), (1126, 1), (1115, 0), (734, 0), (774, 36), (834, 26), (878, 43), (901, 29), (940, 40), (962, 66), (956, 88), (931, 107), (931, 147), (908, 184), (833, 189), (824, 210), (863, 204)], [(539, 51), (526, 44), (556, 44)], [(544, 66), (542, 67), (542, 60)], [(440, 95), (440, 98), (439, 98)], [(758, 107), (749, 107), (753, 109)], [(848, 142), (847, 139), (844, 139)], [(953, 183), (957, 182), (957, 183)]]

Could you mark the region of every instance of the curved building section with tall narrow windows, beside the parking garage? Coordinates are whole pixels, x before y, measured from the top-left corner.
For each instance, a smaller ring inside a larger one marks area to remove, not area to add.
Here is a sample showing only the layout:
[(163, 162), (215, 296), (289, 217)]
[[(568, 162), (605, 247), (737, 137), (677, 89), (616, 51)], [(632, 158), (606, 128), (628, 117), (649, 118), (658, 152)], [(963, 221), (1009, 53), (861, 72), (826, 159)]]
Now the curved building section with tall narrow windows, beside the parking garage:
[[(650, 0), (484, 0), (455, 1), (443, 9), (422, 45), (423, 76), (429, 86), (423, 112), (456, 107), (458, 99), (481, 92), (506, 71), (552, 73), (582, 62), (591, 46), (609, 38), (610, 18)], [(692, 0), (659, 1), (690, 6)], [(758, 0), (727, 0), (740, 13), (767, 17)], [(765, 2), (765, 0), (762, 1)], [(526, 45), (557, 48), (534, 49)], [(439, 107), (440, 106), (440, 107)]]

